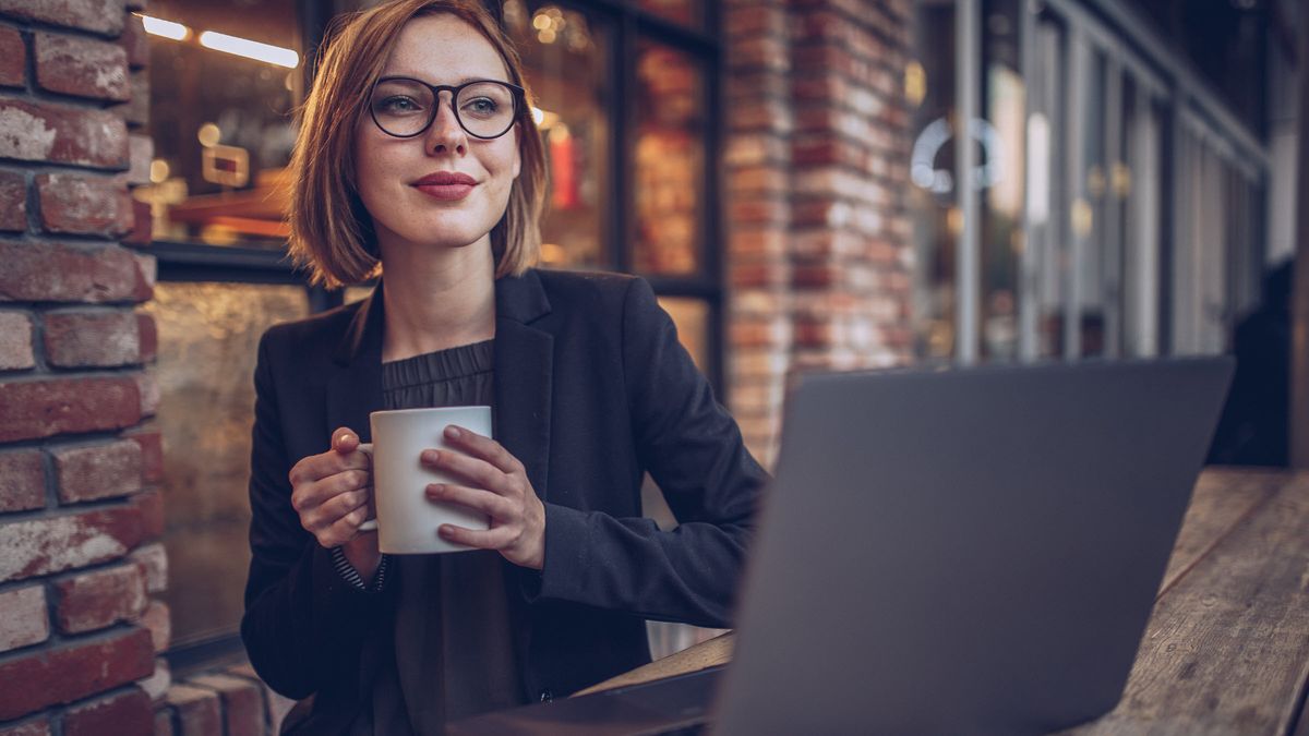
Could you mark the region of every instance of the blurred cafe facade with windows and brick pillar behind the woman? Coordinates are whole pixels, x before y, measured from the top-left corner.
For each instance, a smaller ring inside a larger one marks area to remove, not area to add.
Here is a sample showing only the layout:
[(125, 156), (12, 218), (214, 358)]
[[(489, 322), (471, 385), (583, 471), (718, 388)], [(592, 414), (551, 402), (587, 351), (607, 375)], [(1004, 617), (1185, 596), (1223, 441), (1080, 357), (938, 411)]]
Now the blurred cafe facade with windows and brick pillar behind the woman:
[[(369, 291), (284, 259), (291, 113), (359, 7), (143, 12), (174, 673), (242, 656), (260, 333)], [(546, 139), (543, 266), (647, 276), (766, 462), (796, 371), (1223, 352), (1211, 461), (1289, 462), (1300, 3), (487, 7)]]

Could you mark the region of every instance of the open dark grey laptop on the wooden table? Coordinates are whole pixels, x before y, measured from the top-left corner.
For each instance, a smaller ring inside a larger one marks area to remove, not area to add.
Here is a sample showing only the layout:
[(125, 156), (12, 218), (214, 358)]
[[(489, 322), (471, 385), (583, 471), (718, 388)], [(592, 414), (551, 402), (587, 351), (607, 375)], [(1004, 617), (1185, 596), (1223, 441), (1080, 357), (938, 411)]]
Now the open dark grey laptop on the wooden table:
[(1043, 733), (1122, 697), (1234, 360), (806, 375), (725, 668), (450, 733)]

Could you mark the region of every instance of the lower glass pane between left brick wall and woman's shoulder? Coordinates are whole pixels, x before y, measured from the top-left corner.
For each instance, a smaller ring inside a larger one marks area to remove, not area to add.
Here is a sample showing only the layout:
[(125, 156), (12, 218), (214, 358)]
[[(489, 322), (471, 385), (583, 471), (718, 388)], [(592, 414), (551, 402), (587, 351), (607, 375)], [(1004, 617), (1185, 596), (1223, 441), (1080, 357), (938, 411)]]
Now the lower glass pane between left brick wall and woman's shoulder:
[[(160, 283), (164, 547), (173, 646), (236, 634), (250, 564), (250, 407), (259, 335), (309, 313), (304, 287)], [(203, 407), (203, 411), (198, 411)]]

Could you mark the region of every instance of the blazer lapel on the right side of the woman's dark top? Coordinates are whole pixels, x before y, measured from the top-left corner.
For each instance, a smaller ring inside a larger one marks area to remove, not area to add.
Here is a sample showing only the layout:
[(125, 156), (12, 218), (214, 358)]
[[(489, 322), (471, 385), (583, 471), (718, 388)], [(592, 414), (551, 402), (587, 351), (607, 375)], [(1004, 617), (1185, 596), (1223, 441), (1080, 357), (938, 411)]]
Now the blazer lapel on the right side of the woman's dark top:
[(550, 477), (554, 335), (530, 322), (548, 313), (535, 271), (496, 280), (495, 439), (526, 466), (542, 500)]

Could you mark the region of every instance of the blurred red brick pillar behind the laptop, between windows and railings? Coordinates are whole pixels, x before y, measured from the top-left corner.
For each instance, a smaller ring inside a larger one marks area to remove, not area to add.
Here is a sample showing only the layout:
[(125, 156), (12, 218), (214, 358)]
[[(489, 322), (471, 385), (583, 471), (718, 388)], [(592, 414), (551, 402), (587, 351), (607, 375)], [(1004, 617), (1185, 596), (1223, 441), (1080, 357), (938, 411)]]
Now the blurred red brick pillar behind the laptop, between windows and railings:
[(911, 358), (910, 10), (724, 4), (732, 411), (768, 465), (789, 373)]

